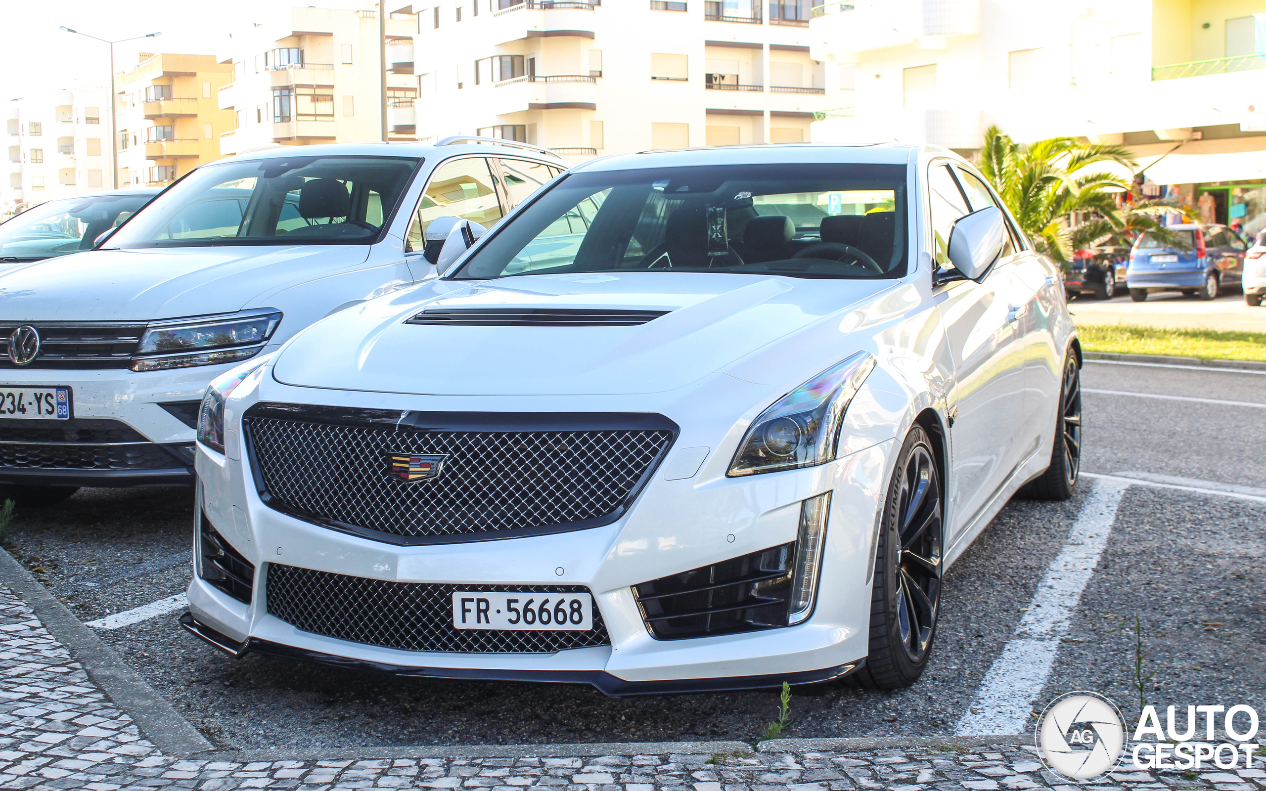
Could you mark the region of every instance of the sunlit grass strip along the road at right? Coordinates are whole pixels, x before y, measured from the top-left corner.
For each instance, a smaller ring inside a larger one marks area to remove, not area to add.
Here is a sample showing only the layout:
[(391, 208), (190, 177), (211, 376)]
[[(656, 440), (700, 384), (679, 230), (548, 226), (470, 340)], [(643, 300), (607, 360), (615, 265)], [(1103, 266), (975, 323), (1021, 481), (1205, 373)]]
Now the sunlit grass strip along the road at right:
[(1266, 333), (1089, 324), (1077, 327), (1077, 338), (1086, 352), (1266, 362)]

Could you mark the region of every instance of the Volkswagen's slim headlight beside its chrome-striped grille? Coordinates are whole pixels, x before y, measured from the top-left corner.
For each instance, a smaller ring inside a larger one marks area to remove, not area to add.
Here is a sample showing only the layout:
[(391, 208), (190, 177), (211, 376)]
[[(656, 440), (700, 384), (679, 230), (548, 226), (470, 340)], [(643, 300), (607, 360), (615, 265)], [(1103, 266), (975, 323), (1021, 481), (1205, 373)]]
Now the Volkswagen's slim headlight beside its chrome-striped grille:
[(254, 357), (281, 324), (280, 311), (151, 324), (141, 337), (133, 371), (214, 366)]

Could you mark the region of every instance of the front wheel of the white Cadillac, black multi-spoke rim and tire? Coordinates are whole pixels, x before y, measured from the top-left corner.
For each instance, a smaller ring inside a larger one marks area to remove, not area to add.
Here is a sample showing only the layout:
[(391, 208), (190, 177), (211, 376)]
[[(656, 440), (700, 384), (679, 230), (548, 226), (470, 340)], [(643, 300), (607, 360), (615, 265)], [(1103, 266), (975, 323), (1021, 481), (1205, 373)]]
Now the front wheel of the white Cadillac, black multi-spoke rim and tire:
[(927, 433), (915, 427), (896, 457), (884, 505), (875, 548), (870, 652), (851, 676), (857, 686), (898, 690), (923, 675), (941, 611), (942, 513), (937, 456)]

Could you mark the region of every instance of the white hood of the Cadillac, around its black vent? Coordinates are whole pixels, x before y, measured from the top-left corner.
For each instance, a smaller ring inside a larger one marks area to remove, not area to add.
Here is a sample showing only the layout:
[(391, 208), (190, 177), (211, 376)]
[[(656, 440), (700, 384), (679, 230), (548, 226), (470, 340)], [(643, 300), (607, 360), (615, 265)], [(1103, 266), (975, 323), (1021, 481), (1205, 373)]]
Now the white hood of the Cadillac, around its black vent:
[[(334, 314), (276, 359), (282, 383), (418, 395), (674, 390), (893, 287), (729, 273), (534, 275), (425, 286)], [(638, 327), (405, 324), (424, 308), (667, 310)]]

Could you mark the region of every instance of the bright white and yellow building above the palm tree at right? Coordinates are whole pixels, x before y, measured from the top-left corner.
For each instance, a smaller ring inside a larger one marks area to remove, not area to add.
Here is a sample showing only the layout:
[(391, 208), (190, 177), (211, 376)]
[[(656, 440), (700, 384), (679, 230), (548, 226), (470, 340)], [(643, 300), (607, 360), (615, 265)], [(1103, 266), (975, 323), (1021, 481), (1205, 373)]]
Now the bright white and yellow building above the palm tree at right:
[(1263, 11), (1261, 0), (830, 0), (814, 9), (810, 52), (851, 90), (813, 139), (971, 156), (998, 124), (1020, 140), (1120, 143), (1144, 194), (1261, 230)]

